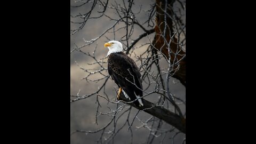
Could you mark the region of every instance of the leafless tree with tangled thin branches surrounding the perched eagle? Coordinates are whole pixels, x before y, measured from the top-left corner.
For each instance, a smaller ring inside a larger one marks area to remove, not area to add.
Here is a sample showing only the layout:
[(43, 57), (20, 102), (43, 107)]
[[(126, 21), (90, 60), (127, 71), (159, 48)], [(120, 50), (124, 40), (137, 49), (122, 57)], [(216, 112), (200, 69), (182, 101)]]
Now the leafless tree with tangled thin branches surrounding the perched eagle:
[[(134, 129), (146, 130), (148, 136), (144, 138), (144, 143), (154, 143), (156, 139), (161, 143), (170, 142), (169, 138), (174, 143), (174, 138), (180, 133), (183, 135), (179, 143), (186, 143), (186, 99), (173, 94), (173, 82), (170, 80), (178, 79), (174, 81), (175, 84), (186, 86), (186, 2), (156, 0), (151, 1), (151, 4), (149, 1), (144, 3), (147, 2), (150, 5), (148, 10), (142, 9), (142, 5), (133, 0), (78, 0), (75, 5), (71, 5), (71, 9), (81, 11), (70, 15), (73, 28), (70, 30), (71, 37), (77, 33), (86, 33), (83, 29), (90, 21), (102, 18), (108, 19), (108, 25), (111, 24), (97, 37), (81, 37), (83, 44), (71, 47), (71, 55), (79, 52), (86, 59), (93, 60), (86, 67), (77, 61), (75, 63), (84, 71), (83, 80), (86, 83), (97, 84), (93, 92), (81, 94), (82, 90), (79, 90), (77, 94), (70, 94), (71, 105), (94, 97), (95, 124), (98, 125), (99, 117), (108, 119), (108, 122), (94, 130), (81, 127), (71, 132), (71, 137), (76, 133), (100, 133), (96, 143), (114, 143), (116, 135), (127, 127), (126, 135), (130, 135), (130, 143), (137, 143), (133, 139)], [(145, 18), (138, 19), (139, 14), (144, 14)], [(117, 100), (117, 94), (108, 91), (109, 87), (117, 90), (117, 85), (108, 75), (107, 57), (106, 54), (100, 54), (102, 48), (99, 49), (98, 43), (113, 39), (121, 42), (125, 53), (138, 63), (142, 75), (143, 99), (146, 99), (143, 107), (136, 107), (123, 94)], [(102, 107), (102, 103), (107, 107)], [(142, 112), (146, 112), (149, 118), (139, 117)], [(138, 123), (134, 127), (135, 122)], [(167, 129), (166, 125), (169, 125)]]

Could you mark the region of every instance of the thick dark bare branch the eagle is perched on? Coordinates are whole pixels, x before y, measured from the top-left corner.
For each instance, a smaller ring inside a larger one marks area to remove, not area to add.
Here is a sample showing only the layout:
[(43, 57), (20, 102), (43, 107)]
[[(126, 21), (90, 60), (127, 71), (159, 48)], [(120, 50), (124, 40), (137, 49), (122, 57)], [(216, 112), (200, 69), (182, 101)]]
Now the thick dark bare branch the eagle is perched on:
[[(126, 99), (121, 93), (119, 100), (127, 101), (129, 102), (129, 99)], [(127, 103), (128, 105), (131, 105), (134, 108), (137, 108), (139, 110), (143, 110), (146, 113), (153, 115), (155, 117), (158, 117), (159, 119), (162, 119), (166, 123), (176, 127), (178, 130), (180, 130), (183, 133), (186, 133), (186, 118), (182, 118), (179, 115), (173, 113), (172, 111), (165, 109), (161, 106), (157, 106), (152, 102), (149, 102), (147, 100), (143, 100), (143, 107), (137, 107), (134, 105), (134, 103)]]

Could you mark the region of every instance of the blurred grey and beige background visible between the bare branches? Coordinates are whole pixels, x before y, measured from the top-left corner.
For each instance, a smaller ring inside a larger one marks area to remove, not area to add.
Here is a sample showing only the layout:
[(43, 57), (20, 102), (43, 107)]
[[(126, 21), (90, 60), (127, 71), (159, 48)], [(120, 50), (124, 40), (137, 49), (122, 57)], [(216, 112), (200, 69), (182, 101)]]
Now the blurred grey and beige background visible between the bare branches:
[[(88, 2), (88, 3), (85, 3)], [(103, 2), (103, 1), (102, 1)], [(106, 2), (106, 1), (105, 1)], [(99, 3), (99, 1), (98, 1)], [(91, 11), (90, 17), (99, 17), (101, 14), (99, 13), (100, 10), (102, 10), (102, 6), (100, 4), (96, 4), (95, 8)], [(109, 6), (114, 6), (118, 3), (121, 6), (129, 5), (129, 1), (108, 1)], [(177, 2), (178, 3), (178, 2)], [(81, 5), (79, 7), (74, 7), (77, 5)], [(81, 23), (75, 23), (75, 22), (81, 22), (81, 17), (75, 17), (79, 14), (87, 13), (91, 10), (92, 5), (94, 4), (94, 1), (74, 1), (70, 0), (70, 30), (75, 30), (81, 26)], [(117, 5), (118, 5), (117, 4)], [(132, 11), (134, 12), (134, 15), (136, 19), (143, 23), (146, 21), (149, 17), (149, 10), (152, 9), (152, 6), (155, 4), (155, 1), (134, 1), (134, 4), (132, 6)], [(178, 5), (178, 4), (177, 4)], [(138, 14), (135, 14), (138, 13)], [(118, 18), (117, 12), (114, 9), (106, 9), (105, 14), (108, 17), (111, 18)], [(155, 15), (155, 13), (154, 13)], [(85, 25), (82, 29), (77, 31), (74, 34), (71, 34), (73, 31), (70, 32), (70, 51), (73, 51), (75, 47), (80, 47), (83, 45), (86, 45), (86, 41), (90, 41), (91, 39), (99, 37), (104, 31), (106, 31), (108, 28), (114, 25), (116, 21), (110, 20), (108, 17), (103, 15), (100, 18), (93, 18), (86, 21)], [(154, 17), (153, 17), (154, 18)], [(183, 20), (185, 22), (185, 17), (183, 17)], [(154, 22), (154, 20), (152, 20)], [(153, 25), (153, 24), (151, 24)], [(124, 23), (119, 22), (117, 23), (115, 29), (124, 27)], [(148, 27), (148, 23), (143, 23), (143, 26), (145, 26), (146, 29), (151, 29)], [(113, 30), (110, 30), (113, 31)], [(133, 28), (133, 33), (131, 37), (129, 38), (129, 43), (133, 41), (133, 39), (136, 39), (139, 35), (143, 33), (143, 30), (139, 26), (135, 26)], [(122, 39), (122, 37), (126, 34), (125, 29), (119, 29), (116, 31), (116, 33), (110, 33), (107, 32), (103, 36), (101, 36), (97, 41), (93, 42), (90, 45), (84, 46), (81, 48), (83, 52), (89, 53), (91, 55), (95, 55), (95, 59), (103, 62), (107, 62), (107, 52), (108, 49), (105, 48), (103, 45), (111, 40), (119, 41)], [(142, 55), (142, 57), (146, 57), (147, 53), (145, 51), (148, 49), (149, 43), (153, 41), (155, 36), (155, 33), (149, 34), (146, 37), (143, 37), (140, 39), (138, 43), (136, 43), (132, 49), (132, 52), (129, 53), (129, 56), (137, 63), (137, 66), (141, 65), (141, 62), (138, 61), (137, 55)], [(125, 43), (123, 42), (123, 47), (125, 49)], [(126, 47), (127, 48), (127, 47)], [(186, 47), (184, 47), (186, 49)], [(98, 79), (103, 78), (101, 74), (93, 74), (87, 77), (86, 80), (85, 77), (89, 75), (85, 70), (86, 69), (92, 69), (91, 71), (95, 71), (100, 69), (100, 65), (96, 65), (92, 63), (95, 62), (95, 59), (90, 57), (89, 55), (84, 54), (83, 52), (79, 51), (73, 51), (70, 53), (70, 95), (88, 95), (91, 94), (99, 89), (99, 87), (105, 82), (105, 81), (99, 81), (99, 82), (88, 82), (88, 79)], [(161, 66), (163, 66), (163, 70), (166, 69), (164, 67), (167, 65), (167, 62), (164, 59), (161, 59), (159, 61), (161, 63)], [(103, 67), (107, 67), (107, 63), (102, 63)], [(153, 67), (150, 70), (152, 73), (154, 71), (157, 71), (156, 67)], [(107, 70), (102, 70), (103, 75), (108, 75)], [(166, 77), (165, 75), (163, 76)], [(165, 79), (166, 80), (166, 79)], [(143, 83), (143, 86), (146, 85)], [(179, 97), (180, 99), (186, 101), (186, 88), (183, 86), (179, 81), (175, 78), (171, 78), (170, 80), (170, 89), (171, 93), (175, 95), (176, 97)], [(104, 91), (100, 91), (99, 94), (101, 95), (108, 95), (108, 98), (111, 101), (115, 101), (116, 97), (116, 90), (117, 85), (114, 83), (114, 81), (109, 78), (106, 86), (104, 87)], [(154, 85), (151, 85), (149, 89), (146, 91), (150, 92), (154, 90)], [(71, 96), (70, 96), (71, 97)], [(75, 98), (70, 98), (75, 99)], [(159, 95), (157, 94), (151, 94), (148, 95), (148, 97), (145, 98), (148, 101), (156, 102), (159, 99)], [(98, 100), (98, 101), (97, 101)], [(120, 105), (123, 105), (123, 103), (120, 102)], [(98, 112), (101, 113), (107, 113), (111, 111), (111, 109), (116, 108), (116, 104), (110, 103), (107, 100), (103, 98), (97, 98), (96, 94), (91, 95), (88, 98), (77, 100), (74, 102), (70, 102), (70, 133), (73, 133), (76, 130), (85, 130), (85, 131), (96, 131), (101, 129), (102, 126), (105, 126), (109, 123), (111, 120), (111, 117), (107, 115), (99, 115), (97, 114), (97, 108), (100, 104)], [(182, 113), (186, 113), (186, 105), (180, 105), (180, 108), (182, 110)], [(129, 106), (125, 106), (123, 108), (123, 111), (129, 109)], [(174, 108), (172, 106), (169, 106), (169, 110), (174, 111)], [(124, 113), (118, 120), (118, 123), (114, 124), (111, 123), (107, 129), (103, 132), (102, 140), (98, 141), (99, 138), (101, 138), (102, 132), (98, 133), (88, 133), (88, 132), (77, 132), (70, 135), (70, 143), (77, 144), (77, 143), (150, 143), (151, 139), (154, 137), (151, 143), (182, 143), (183, 140), (186, 138), (185, 134), (179, 133), (177, 129), (154, 135), (153, 131), (150, 131), (149, 129), (154, 129), (153, 127), (145, 127), (142, 126), (143, 123), (140, 122), (147, 121), (151, 117), (151, 115), (145, 113), (144, 111), (140, 111), (137, 114), (138, 110), (135, 108), (131, 108), (130, 113)], [(129, 121), (132, 122), (134, 118), (134, 122), (131, 126), (132, 133), (128, 131), (128, 125), (125, 124), (125, 121), (127, 119), (127, 116), (129, 116)], [(96, 116), (97, 116), (97, 123), (96, 123)], [(119, 116), (119, 113), (118, 113)], [(118, 130), (120, 127), (123, 127), (113, 138), (113, 140), (104, 140), (108, 139), (108, 133), (111, 133), (113, 131), (112, 127), (116, 126), (116, 130)], [(166, 124), (163, 122), (161, 124), (161, 130), (169, 130), (173, 129), (173, 126)], [(153, 136), (149, 136), (152, 135)], [(186, 143), (186, 142), (184, 142)]]

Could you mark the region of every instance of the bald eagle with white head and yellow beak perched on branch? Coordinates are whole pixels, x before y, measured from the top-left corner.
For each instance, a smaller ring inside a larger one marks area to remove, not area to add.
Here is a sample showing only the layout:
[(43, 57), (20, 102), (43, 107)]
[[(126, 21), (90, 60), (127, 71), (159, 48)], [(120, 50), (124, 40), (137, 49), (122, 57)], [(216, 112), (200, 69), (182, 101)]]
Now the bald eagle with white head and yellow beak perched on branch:
[(121, 92), (127, 99), (134, 101), (135, 106), (143, 106), (141, 74), (136, 63), (123, 52), (122, 43), (110, 41), (108, 47), (108, 73), (119, 87), (117, 99)]

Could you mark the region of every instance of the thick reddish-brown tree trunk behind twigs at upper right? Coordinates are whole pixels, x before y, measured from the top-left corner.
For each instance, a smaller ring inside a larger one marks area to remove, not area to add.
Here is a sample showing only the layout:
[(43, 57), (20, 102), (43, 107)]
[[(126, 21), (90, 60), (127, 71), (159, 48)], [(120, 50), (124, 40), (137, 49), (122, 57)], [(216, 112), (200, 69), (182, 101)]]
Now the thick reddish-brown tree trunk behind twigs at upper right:
[[(173, 3), (175, 1), (174, 0), (167, 0), (167, 9), (166, 9), (166, 13), (171, 15), (171, 17), (173, 18), (173, 12), (172, 12), (172, 7), (173, 7)], [(164, 38), (161, 35), (164, 35), (164, 27), (165, 27), (165, 22), (164, 22), (164, 15), (165, 15), (165, 0), (156, 0), (156, 26), (155, 26), (155, 37), (154, 37), (154, 41), (153, 41), (153, 45), (155, 45), (156, 49), (158, 49), (159, 51), (161, 51), (167, 58), (169, 58), (169, 54), (168, 54), (168, 49), (167, 49), (167, 45), (164, 42)], [(166, 15), (166, 24), (167, 24), (167, 29), (166, 29), (166, 33), (165, 33), (165, 38), (167, 42), (170, 42), (170, 38), (173, 36), (173, 21), (172, 19)], [(170, 28), (170, 29), (169, 29)], [(171, 31), (171, 37), (170, 37), (170, 31)], [(175, 53), (176, 51), (180, 50), (179, 45), (177, 44), (178, 39), (174, 36), (171, 39), (171, 61), (173, 63), (174, 57), (175, 57)], [(162, 47), (162, 49), (161, 49)], [(180, 60), (183, 56), (183, 54), (185, 54), (185, 52), (181, 51), (178, 55), (177, 55), (177, 59), (175, 60), (175, 62), (177, 62), (178, 60)], [(176, 71), (174, 73), (174, 75), (172, 77), (179, 79), (179, 81), (186, 86), (186, 58), (181, 60), (179, 63), (179, 70)], [(177, 68), (178, 65), (174, 66), (174, 69)]]

